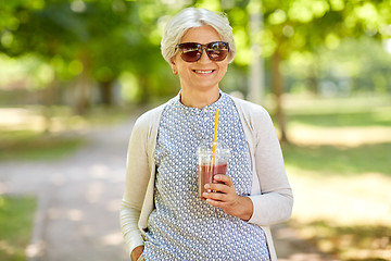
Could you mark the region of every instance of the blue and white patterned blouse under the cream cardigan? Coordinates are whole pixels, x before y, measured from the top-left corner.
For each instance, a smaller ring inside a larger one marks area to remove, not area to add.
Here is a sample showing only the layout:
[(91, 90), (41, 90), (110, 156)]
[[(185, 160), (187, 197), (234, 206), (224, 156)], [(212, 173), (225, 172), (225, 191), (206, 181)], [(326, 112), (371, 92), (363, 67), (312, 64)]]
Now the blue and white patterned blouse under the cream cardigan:
[(217, 139), (231, 157), (227, 175), (240, 196), (252, 187), (250, 154), (234, 101), (220, 98), (203, 108), (188, 108), (180, 94), (163, 111), (155, 149), (155, 209), (149, 216), (146, 260), (269, 260), (263, 229), (198, 197), (197, 148), (213, 141), (215, 110)]

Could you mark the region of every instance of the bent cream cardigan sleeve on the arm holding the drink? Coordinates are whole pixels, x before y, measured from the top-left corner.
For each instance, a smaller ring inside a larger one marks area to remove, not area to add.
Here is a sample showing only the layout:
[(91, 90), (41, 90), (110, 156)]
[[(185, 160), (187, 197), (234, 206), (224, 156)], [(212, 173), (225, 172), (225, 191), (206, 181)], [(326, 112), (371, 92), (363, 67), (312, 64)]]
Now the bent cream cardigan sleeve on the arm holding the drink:
[(251, 121), (253, 159), (261, 194), (251, 195), (253, 214), (250, 223), (268, 226), (291, 216), (293, 195), (285, 171), (282, 151), (267, 111), (258, 107)]

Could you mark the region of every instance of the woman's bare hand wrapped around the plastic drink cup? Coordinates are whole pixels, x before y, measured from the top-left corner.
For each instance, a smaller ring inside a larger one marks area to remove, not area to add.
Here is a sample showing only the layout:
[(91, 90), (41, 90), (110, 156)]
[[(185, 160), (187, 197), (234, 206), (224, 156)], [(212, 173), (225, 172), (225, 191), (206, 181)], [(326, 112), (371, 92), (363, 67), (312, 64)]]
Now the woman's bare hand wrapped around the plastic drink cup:
[(251, 199), (236, 194), (234, 183), (229, 176), (217, 174), (214, 179), (218, 183), (205, 185), (205, 189), (213, 191), (203, 194), (206, 202), (223, 209), (227, 214), (249, 221), (253, 213)]

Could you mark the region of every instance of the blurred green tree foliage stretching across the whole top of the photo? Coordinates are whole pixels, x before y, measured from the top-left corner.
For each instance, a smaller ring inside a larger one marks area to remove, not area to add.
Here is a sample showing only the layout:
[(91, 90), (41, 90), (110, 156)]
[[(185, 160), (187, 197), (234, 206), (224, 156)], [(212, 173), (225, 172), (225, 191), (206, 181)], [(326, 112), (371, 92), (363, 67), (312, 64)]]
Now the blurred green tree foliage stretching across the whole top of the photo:
[[(81, 95), (88, 94), (87, 88), (83, 89), (88, 85), (100, 91), (98, 100), (110, 102), (108, 96), (114, 92), (114, 84), (124, 74), (131, 74), (136, 77), (137, 88), (131, 99), (146, 102), (155, 96), (172, 96), (178, 90), (178, 79), (171, 75), (160, 53), (160, 40), (169, 16), (186, 7), (210, 8), (228, 14), (238, 49), (235, 71), (243, 75), (252, 60), (251, 42), (262, 44), (262, 53), (266, 59), (276, 52), (282, 60), (297, 58), (298, 53), (313, 53), (314, 57), (306, 61), (308, 73), (303, 77), (321, 78), (324, 72), (333, 67), (336, 59), (325, 62), (327, 59), (318, 59), (317, 53), (336, 50), (346, 37), (365, 36), (378, 40), (391, 35), (391, 7), (388, 1), (171, 2), (2, 0), (0, 51), (17, 59), (27, 54), (38, 57), (40, 64), (28, 73), (28, 77), (36, 77), (34, 89), (76, 86), (80, 88), (76, 91), (80, 98), (76, 97), (76, 100), (81, 101), (75, 103), (88, 104), (83, 99), (91, 98)], [(252, 34), (249, 32), (249, 18), (258, 9), (263, 12), (264, 28)], [(352, 45), (355, 44), (350, 42), (349, 47)], [(376, 65), (367, 70), (367, 74), (379, 72), (368, 82), (376, 86), (376, 91), (388, 89), (389, 77), (384, 76), (389, 74), (384, 65), (388, 63), (386, 59), (382, 61), (381, 67)], [(366, 64), (366, 61), (351, 63)], [(317, 66), (321, 69), (313, 70)], [(358, 72), (358, 75), (363, 77), (353, 79), (354, 88), (355, 80), (363, 83), (368, 78), (366, 74)], [(235, 80), (227, 83), (230, 85)], [(235, 86), (229, 86), (229, 89), (232, 88)]]

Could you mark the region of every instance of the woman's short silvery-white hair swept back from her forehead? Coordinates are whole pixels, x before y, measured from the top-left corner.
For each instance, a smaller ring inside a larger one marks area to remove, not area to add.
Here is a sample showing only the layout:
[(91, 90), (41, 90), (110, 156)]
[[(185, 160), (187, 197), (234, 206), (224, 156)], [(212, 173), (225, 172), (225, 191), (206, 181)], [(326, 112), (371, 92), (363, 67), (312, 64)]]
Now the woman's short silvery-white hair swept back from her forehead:
[(218, 33), (222, 40), (229, 44), (228, 63), (232, 62), (236, 46), (232, 27), (229, 25), (227, 16), (223, 13), (217, 14), (206, 9), (195, 8), (184, 9), (167, 23), (161, 44), (164, 60), (171, 63), (177, 52), (176, 46), (180, 44), (185, 33), (190, 28), (202, 25), (212, 26)]

